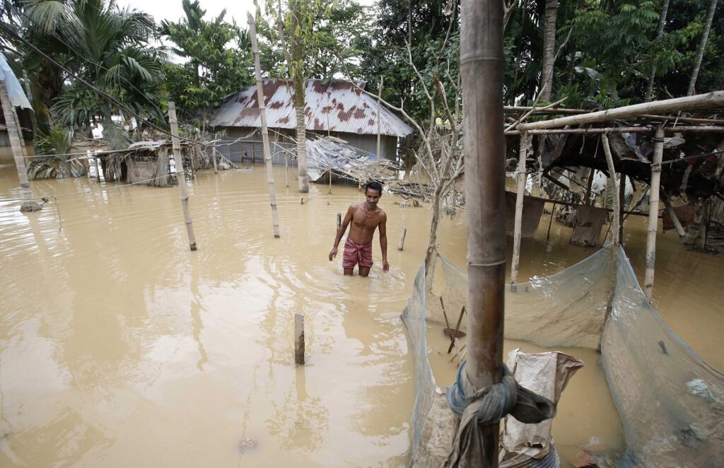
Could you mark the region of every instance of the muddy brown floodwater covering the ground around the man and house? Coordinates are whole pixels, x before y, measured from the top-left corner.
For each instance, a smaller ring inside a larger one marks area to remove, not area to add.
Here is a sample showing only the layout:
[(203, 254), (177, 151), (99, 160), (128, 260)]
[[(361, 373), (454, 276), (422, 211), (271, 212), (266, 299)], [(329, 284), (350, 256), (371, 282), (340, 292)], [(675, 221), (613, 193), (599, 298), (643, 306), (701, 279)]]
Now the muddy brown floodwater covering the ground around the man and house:
[[(375, 239), (370, 277), (343, 277), (341, 259), (327, 260), (335, 217), (363, 194), (311, 185), (302, 195), (291, 170), (290, 188), (283, 167), (274, 175), (279, 239), (263, 167), (199, 172), (190, 183), (198, 251), (190, 252), (177, 188), (38, 180), (36, 196), (90, 192), (26, 215), (7, 201), (20, 196), (19, 184), (12, 159), (0, 159), (0, 466), (406, 464), (413, 362), (399, 317), (424, 256), (429, 209), (383, 196), (390, 272)], [(642, 273), (644, 219), (626, 227)], [(570, 230), (555, 222), (546, 243), (546, 228), (523, 243), (521, 278), (592, 254), (569, 246)], [(460, 267), (465, 239), (464, 214), (445, 217), (440, 251)], [(660, 235), (658, 259), (654, 305), (723, 369), (724, 263), (680, 250), (672, 233)], [(295, 312), (306, 316), (304, 367), (294, 364)], [(541, 349), (506, 342), (518, 346)], [(454, 371), (446, 348), (431, 340), (440, 385)], [(597, 354), (563, 351), (587, 366), (563, 393), (557, 445), (564, 455), (576, 446), (620, 449)]]

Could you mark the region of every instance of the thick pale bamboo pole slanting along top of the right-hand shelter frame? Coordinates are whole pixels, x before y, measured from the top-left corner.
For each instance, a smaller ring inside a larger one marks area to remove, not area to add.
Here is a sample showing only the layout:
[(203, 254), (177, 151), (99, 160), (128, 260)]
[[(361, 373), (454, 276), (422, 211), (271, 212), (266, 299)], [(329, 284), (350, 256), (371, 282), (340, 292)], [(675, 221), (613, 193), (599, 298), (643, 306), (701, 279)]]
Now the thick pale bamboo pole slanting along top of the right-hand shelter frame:
[[(644, 102), (631, 106), (617, 107), (605, 111), (591, 112), (590, 114), (570, 115), (551, 120), (529, 122), (518, 125), (518, 130), (536, 130), (541, 128), (559, 128), (565, 125), (581, 125), (586, 123), (607, 122), (624, 117), (636, 117), (641, 114), (683, 112), (694, 109), (711, 109), (724, 105), (724, 91), (697, 94), (683, 98), (665, 99), (663, 101)], [(502, 122), (502, 117), (500, 117)]]

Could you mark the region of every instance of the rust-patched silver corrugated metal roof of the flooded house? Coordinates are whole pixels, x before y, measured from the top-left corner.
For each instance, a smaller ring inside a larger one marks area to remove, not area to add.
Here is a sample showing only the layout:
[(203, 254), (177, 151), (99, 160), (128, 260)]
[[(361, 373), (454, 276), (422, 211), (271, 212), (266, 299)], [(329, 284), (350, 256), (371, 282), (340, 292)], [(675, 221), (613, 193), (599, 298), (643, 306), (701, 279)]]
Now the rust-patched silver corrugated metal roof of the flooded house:
[[(344, 80), (308, 80), (305, 101), (307, 130), (377, 134), (377, 101)], [(266, 122), (270, 128), (296, 128), (293, 84), (289, 80), (264, 80)], [(256, 85), (232, 94), (216, 109), (212, 127), (258, 127)], [(382, 106), (380, 133), (403, 137), (412, 133), (405, 122)]]

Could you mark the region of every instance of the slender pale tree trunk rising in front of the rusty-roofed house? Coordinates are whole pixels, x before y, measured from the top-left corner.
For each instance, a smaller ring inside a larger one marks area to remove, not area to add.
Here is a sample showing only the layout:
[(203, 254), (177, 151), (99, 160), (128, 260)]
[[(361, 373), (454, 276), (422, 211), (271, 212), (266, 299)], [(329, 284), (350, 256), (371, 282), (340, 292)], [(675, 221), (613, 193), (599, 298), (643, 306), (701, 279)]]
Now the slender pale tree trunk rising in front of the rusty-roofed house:
[(297, 114), (297, 174), (299, 191), (309, 191), (307, 175), (307, 136), (304, 122), (304, 46), (301, 36), (303, 19), (303, 1), (290, 2), (292, 9), (292, 63), (290, 73), (294, 81), (294, 109)]

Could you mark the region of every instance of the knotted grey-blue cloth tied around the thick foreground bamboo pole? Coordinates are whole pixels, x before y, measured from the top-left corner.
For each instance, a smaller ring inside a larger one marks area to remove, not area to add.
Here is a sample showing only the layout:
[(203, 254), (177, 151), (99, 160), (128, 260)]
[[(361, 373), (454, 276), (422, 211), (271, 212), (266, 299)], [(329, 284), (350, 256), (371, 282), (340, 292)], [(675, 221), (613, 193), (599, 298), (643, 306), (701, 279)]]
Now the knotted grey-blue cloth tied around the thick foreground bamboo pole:
[[(466, 364), (463, 362), (458, 368), (457, 380), (447, 388), (447, 404), (460, 419), (460, 426), (443, 464), (445, 468), (462, 467), (470, 461), (476, 461), (473, 466), (483, 466), (483, 461), (490, 457), (484, 453), (482, 426), (496, 423), (508, 414), (526, 424), (537, 424), (555, 416), (555, 404), (521, 387), (505, 364), (500, 383), (480, 390), (468, 379)], [(494, 456), (497, 458), (497, 453)]]

